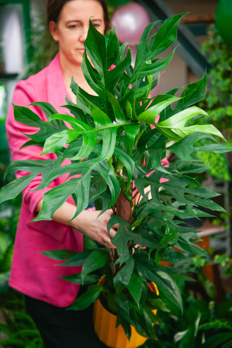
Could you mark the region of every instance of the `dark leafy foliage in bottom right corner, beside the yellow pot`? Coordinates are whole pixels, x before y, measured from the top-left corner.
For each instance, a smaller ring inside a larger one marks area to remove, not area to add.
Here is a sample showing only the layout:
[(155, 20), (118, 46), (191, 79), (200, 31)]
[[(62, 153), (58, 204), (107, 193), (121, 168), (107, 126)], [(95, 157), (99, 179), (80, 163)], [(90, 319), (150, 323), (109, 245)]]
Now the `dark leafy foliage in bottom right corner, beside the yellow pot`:
[(232, 298), (216, 305), (203, 298), (196, 301), (183, 281), (180, 280), (178, 286), (183, 298), (183, 316), (162, 312), (158, 340), (148, 340), (142, 347), (231, 348)]

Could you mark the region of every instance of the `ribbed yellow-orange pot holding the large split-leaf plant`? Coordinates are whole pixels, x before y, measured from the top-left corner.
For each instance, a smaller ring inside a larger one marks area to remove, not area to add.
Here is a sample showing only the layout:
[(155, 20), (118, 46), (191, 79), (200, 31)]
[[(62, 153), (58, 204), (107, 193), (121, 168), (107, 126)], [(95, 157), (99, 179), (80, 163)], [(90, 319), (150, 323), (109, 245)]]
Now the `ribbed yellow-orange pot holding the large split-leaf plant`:
[[(159, 295), (157, 286), (154, 283), (149, 283), (154, 293)], [(153, 310), (153, 313), (157, 313), (157, 309)], [(101, 304), (101, 301), (97, 299), (94, 302), (94, 331), (96, 332), (100, 341), (102, 341), (107, 347), (111, 348), (136, 348), (147, 340), (137, 333), (134, 326), (131, 327), (130, 340), (126, 337), (123, 327), (116, 326), (117, 316), (107, 311)]]

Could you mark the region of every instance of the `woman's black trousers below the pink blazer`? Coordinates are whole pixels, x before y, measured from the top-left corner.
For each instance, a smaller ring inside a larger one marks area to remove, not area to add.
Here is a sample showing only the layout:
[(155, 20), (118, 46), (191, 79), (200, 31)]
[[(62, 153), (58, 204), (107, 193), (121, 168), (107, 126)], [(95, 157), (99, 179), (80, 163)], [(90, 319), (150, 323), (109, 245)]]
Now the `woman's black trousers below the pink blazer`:
[(26, 309), (41, 334), (46, 348), (105, 348), (93, 327), (93, 306), (65, 310), (25, 296)]

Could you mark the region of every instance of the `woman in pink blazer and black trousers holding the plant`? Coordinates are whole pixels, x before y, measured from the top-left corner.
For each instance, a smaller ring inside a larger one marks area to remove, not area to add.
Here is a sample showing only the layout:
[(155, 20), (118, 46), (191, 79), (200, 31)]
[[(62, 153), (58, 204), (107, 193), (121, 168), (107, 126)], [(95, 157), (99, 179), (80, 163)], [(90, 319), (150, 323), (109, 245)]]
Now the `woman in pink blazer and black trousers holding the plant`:
[[(59, 106), (65, 104), (66, 95), (75, 102), (70, 89), (72, 76), (80, 87), (94, 94), (81, 70), (84, 42), (89, 18), (91, 17), (96, 29), (104, 34), (109, 17), (104, 0), (48, 0), (47, 14), (49, 29), (54, 40), (58, 42), (59, 53), (45, 69), (25, 81), (18, 82), (13, 103), (26, 106), (36, 101), (44, 101), (52, 104), (59, 113), (65, 113), (69, 110)], [(41, 109), (36, 106), (29, 108), (46, 120)], [(24, 134), (35, 133), (35, 128), (17, 122), (12, 105), (7, 115), (6, 130), (13, 160), (39, 157), (39, 147), (27, 146), (20, 150), (28, 140)], [(54, 158), (55, 154), (39, 157)], [(67, 163), (65, 160), (64, 164)], [(25, 174), (26, 172), (17, 172), (16, 176)], [(75, 229), (85, 232), (99, 243), (115, 248), (106, 228), (113, 214), (112, 210), (97, 218), (99, 211), (87, 209), (69, 222), (76, 210), (70, 197), (54, 213), (53, 221), (30, 222), (41, 210), (43, 193), (64, 182), (66, 177), (67, 175), (63, 175), (54, 180), (45, 190), (29, 192), (38, 187), (41, 176), (37, 176), (23, 190), (9, 285), (26, 295), (26, 307), (40, 330), (46, 347), (102, 347), (91, 328), (89, 309), (81, 312), (65, 310), (76, 299), (80, 286), (67, 283), (60, 277), (80, 272), (80, 267), (54, 267), (57, 262), (38, 251), (82, 251), (83, 236)], [(116, 233), (115, 228), (117, 226), (110, 230), (111, 238)]]

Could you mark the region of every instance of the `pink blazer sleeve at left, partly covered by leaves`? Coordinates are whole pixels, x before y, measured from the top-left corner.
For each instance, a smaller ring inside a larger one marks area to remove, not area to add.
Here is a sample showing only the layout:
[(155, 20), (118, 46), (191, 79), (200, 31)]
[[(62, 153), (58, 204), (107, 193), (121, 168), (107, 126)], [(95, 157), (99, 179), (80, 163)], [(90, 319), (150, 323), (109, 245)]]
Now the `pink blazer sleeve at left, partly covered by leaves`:
[[(27, 106), (35, 101), (38, 101), (39, 96), (35, 92), (34, 87), (28, 82), (25, 81), (19, 81), (15, 87), (12, 102), (19, 106)], [(46, 120), (45, 114), (36, 106), (29, 106), (29, 108), (38, 114), (38, 116)], [(39, 146), (26, 146), (24, 148), (21, 148), (25, 142), (27, 142), (29, 137), (22, 134), (33, 134), (36, 133), (39, 130), (39, 128), (26, 126), (21, 124), (20, 122), (17, 122), (14, 118), (14, 109), (13, 105), (11, 104), (9, 106), (7, 118), (6, 118), (6, 133), (7, 133), (7, 139), (8, 144), (10, 148), (10, 153), (13, 161), (15, 160), (30, 160), (30, 159), (52, 159), (56, 158), (55, 154), (45, 154), (41, 157), (40, 153), (42, 152), (42, 147)], [(24, 171), (17, 171), (16, 177), (21, 177), (23, 175), (27, 175), (28, 172)], [(39, 201), (43, 198), (43, 193), (49, 191), (51, 188), (56, 186), (55, 181), (53, 181), (48, 188), (35, 191), (35, 192), (28, 192), (32, 191), (35, 188), (38, 187), (39, 183), (41, 181), (41, 175), (38, 175), (35, 177), (29, 185), (22, 191), (23, 194), (23, 201), (29, 206), (29, 210), (31, 213), (34, 212), (35, 207), (39, 203)]]

